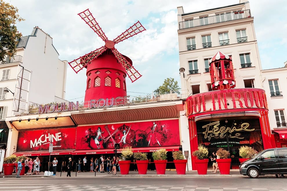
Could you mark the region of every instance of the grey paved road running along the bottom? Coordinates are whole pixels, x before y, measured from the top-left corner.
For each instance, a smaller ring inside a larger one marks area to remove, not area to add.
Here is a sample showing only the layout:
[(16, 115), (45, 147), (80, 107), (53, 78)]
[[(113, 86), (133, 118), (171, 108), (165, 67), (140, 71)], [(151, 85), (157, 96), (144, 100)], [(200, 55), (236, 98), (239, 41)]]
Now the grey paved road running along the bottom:
[(0, 178), (0, 190), (287, 190), (287, 178), (248, 177), (21, 177)]

